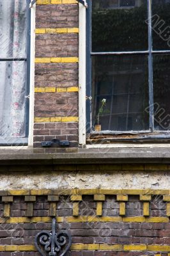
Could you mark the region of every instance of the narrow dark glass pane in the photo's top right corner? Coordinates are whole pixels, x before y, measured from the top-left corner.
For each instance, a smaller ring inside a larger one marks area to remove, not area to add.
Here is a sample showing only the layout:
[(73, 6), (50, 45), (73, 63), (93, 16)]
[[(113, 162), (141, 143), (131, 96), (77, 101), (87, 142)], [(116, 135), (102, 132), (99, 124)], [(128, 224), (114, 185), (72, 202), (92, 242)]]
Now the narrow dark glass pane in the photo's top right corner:
[(153, 50), (170, 50), (169, 13), (169, 0), (152, 0)]

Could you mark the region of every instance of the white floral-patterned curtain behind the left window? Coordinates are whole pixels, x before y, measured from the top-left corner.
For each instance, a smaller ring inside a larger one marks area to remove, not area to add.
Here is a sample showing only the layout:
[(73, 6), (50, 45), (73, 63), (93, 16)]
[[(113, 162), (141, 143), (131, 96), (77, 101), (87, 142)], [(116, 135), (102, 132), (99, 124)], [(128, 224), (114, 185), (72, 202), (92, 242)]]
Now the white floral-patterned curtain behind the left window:
[(0, 0), (0, 138), (26, 135), (26, 26), (26, 0)]

